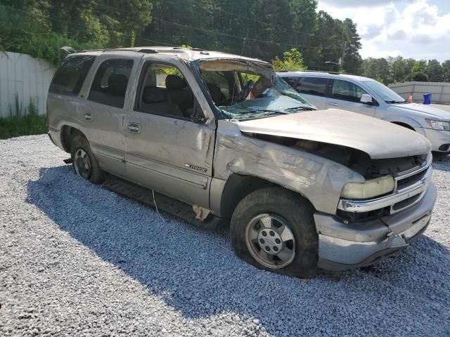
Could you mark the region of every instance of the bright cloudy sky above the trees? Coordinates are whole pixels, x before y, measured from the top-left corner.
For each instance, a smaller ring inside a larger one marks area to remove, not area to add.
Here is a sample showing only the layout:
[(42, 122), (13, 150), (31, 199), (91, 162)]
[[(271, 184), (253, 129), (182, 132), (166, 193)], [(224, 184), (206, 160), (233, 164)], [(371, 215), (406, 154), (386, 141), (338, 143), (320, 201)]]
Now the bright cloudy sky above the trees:
[(450, 0), (319, 0), (321, 10), (356, 23), (363, 58), (450, 60)]

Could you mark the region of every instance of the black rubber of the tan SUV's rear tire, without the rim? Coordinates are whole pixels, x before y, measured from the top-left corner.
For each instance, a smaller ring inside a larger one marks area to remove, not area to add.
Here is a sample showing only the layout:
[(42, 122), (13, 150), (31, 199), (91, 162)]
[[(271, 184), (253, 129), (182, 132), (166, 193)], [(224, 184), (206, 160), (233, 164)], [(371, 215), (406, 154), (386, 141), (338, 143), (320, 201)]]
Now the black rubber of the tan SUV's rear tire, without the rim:
[[(77, 170), (77, 159), (76, 153), (79, 151), (84, 151), (89, 159), (89, 170), (86, 170), (85, 174), (79, 173), (79, 169)], [(72, 158), (72, 166), (75, 173), (82, 178), (89, 180), (91, 183), (99, 185), (103, 183), (105, 180), (105, 173), (98, 165), (98, 161), (92, 153), (91, 147), (89, 146), (89, 142), (84, 136), (75, 136), (72, 139), (72, 143), (70, 145), (70, 157)]]

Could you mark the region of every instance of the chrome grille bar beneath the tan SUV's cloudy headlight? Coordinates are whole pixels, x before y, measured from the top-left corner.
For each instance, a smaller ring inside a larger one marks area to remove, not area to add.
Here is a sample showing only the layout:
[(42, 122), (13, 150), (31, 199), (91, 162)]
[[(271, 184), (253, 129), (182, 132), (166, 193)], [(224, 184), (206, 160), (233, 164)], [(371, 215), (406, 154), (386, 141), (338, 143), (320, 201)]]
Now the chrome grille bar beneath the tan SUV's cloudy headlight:
[[(383, 209), (387, 206), (392, 206), (394, 204), (397, 204), (400, 201), (404, 201), (405, 199), (408, 199), (410, 197), (414, 197), (417, 194), (425, 194), (428, 183), (431, 180), (432, 176), (432, 167), (429, 166), (427, 172), (425, 173), (425, 176), (423, 176), (418, 182), (414, 183), (413, 185), (406, 187), (400, 191), (395, 191), (393, 194), (387, 195), (386, 197), (380, 197), (376, 199), (369, 199), (369, 200), (349, 200), (349, 199), (340, 199), (338, 204), (338, 209), (342, 211), (348, 211), (348, 212), (369, 212), (369, 211), (375, 211), (376, 209)], [(422, 199), (423, 196), (421, 196), (418, 200), (414, 201), (413, 204), (417, 204), (420, 199)], [(400, 211), (403, 211), (404, 209), (407, 209), (413, 204), (409, 204), (408, 206), (393, 211), (391, 209), (392, 213), (398, 213)]]

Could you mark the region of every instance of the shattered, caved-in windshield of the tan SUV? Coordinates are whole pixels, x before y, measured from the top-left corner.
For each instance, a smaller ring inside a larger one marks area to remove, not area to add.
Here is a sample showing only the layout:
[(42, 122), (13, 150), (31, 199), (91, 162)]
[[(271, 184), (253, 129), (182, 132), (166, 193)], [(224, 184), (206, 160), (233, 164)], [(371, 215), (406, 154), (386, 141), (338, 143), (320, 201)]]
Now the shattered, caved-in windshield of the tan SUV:
[(198, 70), (220, 119), (257, 119), (315, 110), (274, 70), (247, 60), (203, 60)]

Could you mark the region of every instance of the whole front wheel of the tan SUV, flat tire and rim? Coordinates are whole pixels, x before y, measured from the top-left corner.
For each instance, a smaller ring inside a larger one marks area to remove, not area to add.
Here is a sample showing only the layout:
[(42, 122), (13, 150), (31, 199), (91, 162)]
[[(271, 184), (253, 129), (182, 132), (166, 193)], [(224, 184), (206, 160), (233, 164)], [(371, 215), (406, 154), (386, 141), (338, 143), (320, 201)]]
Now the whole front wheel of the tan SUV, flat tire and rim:
[(240, 258), (259, 269), (314, 275), (319, 244), (313, 215), (311, 204), (294, 192), (257, 190), (239, 202), (231, 217), (231, 244)]

